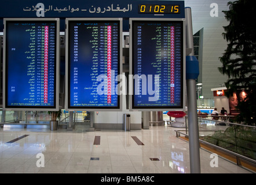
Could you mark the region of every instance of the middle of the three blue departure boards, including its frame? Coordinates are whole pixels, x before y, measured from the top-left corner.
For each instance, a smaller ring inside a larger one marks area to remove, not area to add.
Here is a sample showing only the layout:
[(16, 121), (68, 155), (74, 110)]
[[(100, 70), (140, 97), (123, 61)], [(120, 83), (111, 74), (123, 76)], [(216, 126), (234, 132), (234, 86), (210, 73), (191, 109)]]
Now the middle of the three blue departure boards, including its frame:
[(67, 18), (66, 24), (66, 109), (119, 110), (122, 18)]

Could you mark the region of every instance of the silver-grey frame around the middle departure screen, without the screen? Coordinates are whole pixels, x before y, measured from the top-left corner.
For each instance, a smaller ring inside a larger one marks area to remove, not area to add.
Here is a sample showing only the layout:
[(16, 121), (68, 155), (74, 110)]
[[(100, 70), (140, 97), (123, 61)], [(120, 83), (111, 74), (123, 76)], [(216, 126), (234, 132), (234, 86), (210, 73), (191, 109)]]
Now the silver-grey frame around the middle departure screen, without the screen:
[[(70, 111), (122, 111), (122, 94), (118, 88), (118, 105), (117, 106), (71, 106), (71, 73), (70, 73), (70, 23), (118, 23), (119, 42), (118, 42), (118, 76), (122, 76), (122, 28), (123, 18), (66, 18), (65, 19), (65, 109)], [(120, 81), (120, 78), (118, 79)], [(119, 84), (119, 83), (118, 83)]]

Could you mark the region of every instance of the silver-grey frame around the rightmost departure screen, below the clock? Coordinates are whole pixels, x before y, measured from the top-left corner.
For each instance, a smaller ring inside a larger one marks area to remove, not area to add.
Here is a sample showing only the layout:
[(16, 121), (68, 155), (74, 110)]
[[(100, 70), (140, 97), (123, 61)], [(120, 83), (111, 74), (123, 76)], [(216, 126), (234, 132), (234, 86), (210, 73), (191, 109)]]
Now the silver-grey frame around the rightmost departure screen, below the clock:
[(181, 49), (181, 105), (180, 106), (134, 106), (134, 80), (130, 78), (130, 92), (129, 95), (129, 105), (130, 111), (185, 111), (185, 69), (186, 69), (186, 62), (185, 62), (185, 18), (130, 18), (130, 48), (129, 48), (129, 75), (134, 76), (134, 35), (133, 35), (133, 24), (136, 22), (145, 22), (145, 23), (168, 23), (168, 22), (180, 22), (182, 23), (182, 49)]

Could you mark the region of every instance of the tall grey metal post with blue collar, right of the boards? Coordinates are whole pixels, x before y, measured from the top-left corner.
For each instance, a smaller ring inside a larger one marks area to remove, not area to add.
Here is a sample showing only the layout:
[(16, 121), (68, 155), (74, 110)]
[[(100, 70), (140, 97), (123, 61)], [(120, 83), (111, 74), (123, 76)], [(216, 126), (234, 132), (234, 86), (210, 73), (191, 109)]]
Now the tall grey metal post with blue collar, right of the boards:
[(193, 56), (193, 32), (191, 8), (185, 8), (186, 18), (186, 89), (188, 98), (189, 161), (191, 173), (200, 173), (199, 128), (196, 105), (196, 78), (199, 75), (198, 60)]

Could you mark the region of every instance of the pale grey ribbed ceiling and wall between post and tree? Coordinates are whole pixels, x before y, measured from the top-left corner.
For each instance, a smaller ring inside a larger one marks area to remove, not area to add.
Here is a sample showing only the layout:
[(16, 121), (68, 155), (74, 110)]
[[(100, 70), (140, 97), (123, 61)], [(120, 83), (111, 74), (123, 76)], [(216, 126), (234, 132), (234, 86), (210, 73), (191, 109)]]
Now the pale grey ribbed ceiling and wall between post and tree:
[[(227, 3), (231, 0), (185, 0), (185, 7), (190, 7), (192, 12), (193, 34), (203, 28), (203, 60), (202, 60), (202, 83), (203, 96), (213, 99), (211, 88), (224, 85), (228, 79), (218, 71), (222, 64), (219, 57), (226, 49), (227, 42), (222, 33), (223, 26), (228, 25), (222, 10), (228, 10)], [(218, 17), (211, 17), (211, 3), (218, 5)]]

